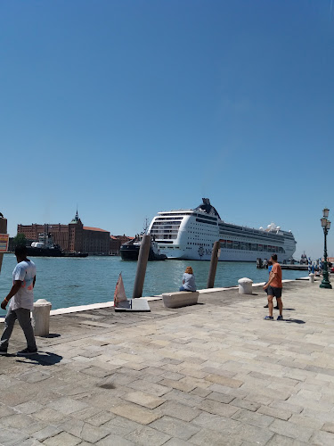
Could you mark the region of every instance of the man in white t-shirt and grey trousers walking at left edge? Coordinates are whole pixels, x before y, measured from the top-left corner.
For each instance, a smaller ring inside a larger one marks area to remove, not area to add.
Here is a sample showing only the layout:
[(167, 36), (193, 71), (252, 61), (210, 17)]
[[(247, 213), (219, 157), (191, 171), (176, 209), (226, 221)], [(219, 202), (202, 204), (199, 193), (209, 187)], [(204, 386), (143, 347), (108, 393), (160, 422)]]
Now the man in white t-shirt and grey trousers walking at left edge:
[(1, 303), (6, 309), (10, 301), (7, 316), (4, 319), (4, 333), (0, 341), (0, 354), (6, 355), (8, 343), (12, 335), (15, 320), (18, 319), (27, 340), (27, 348), (18, 351), (18, 356), (28, 356), (37, 353), (34, 330), (31, 326), (30, 311), (34, 308), (34, 286), (36, 282), (35, 263), (27, 259), (27, 248), (24, 245), (15, 248), (18, 264), (12, 271), (12, 289)]

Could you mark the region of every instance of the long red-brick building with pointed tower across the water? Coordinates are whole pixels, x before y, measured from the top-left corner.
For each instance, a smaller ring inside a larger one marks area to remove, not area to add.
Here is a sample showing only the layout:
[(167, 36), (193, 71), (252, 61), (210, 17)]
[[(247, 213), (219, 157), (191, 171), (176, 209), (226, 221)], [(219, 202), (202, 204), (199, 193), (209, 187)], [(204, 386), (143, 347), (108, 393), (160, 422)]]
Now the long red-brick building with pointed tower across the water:
[(18, 234), (26, 235), (29, 240), (38, 240), (38, 235), (45, 232), (52, 234), (53, 243), (66, 252), (110, 253), (110, 232), (99, 227), (84, 227), (78, 214), (69, 225), (18, 225)]

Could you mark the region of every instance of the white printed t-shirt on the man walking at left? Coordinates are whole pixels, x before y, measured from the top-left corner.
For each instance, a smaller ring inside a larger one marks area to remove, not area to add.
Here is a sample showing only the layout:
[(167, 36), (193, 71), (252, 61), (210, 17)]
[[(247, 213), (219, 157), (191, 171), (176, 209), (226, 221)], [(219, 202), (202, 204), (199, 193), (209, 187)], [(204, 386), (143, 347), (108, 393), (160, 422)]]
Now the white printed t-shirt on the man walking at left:
[(36, 276), (36, 266), (31, 260), (20, 261), (12, 271), (12, 282), (20, 280), (22, 285), (20, 290), (12, 296), (9, 304), (11, 310), (34, 308), (34, 277)]

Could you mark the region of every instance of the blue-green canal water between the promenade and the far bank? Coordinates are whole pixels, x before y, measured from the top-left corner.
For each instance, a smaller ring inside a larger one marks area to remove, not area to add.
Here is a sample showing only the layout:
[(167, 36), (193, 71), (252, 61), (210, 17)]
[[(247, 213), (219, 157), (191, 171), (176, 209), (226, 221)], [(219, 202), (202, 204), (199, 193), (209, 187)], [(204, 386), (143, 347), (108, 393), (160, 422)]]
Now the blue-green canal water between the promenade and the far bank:
[[(91, 256), (79, 258), (31, 258), (37, 266), (35, 301), (46, 299), (53, 304), (53, 310), (112, 301), (118, 275), (121, 272), (126, 296), (132, 297), (137, 262), (121, 260), (120, 257)], [(0, 300), (12, 286), (12, 270), (16, 265), (13, 254), (4, 254), (0, 275)], [(206, 288), (209, 261), (164, 260), (151, 261), (146, 269), (143, 296), (177, 291), (182, 285), (184, 269), (191, 266), (198, 289)], [(305, 276), (305, 271), (283, 270), (284, 279)], [(240, 277), (249, 277), (254, 283), (265, 282), (267, 269), (257, 269), (256, 262), (219, 261), (216, 270), (216, 287), (238, 285)], [(0, 317), (5, 311), (0, 310)]]

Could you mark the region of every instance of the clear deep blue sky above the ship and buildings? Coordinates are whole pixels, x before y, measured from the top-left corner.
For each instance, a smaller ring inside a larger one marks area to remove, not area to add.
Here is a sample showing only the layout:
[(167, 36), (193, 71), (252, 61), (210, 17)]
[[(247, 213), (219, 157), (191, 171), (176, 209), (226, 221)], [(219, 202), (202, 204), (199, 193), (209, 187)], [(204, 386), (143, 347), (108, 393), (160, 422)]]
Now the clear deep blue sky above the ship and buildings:
[[(222, 219), (334, 221), (334, 12), (319, 0), (0, 3), (0, 211), (134, 235), (209, 197)], [(334, 255), (334, 224), (329, 235)]]

